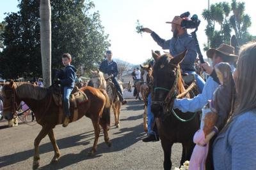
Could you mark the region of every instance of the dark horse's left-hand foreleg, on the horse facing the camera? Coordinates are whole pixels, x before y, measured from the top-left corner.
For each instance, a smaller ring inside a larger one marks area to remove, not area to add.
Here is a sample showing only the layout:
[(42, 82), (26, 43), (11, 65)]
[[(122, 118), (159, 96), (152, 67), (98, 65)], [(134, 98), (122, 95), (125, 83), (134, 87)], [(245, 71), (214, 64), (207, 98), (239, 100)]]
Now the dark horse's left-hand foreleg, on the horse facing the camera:
[(170, 170), (172, 169), (172, 160), (171, 160), (171, 154), (172, 154), (172, 145), (168, 139), (161, 139), (161, 145), (164, 150), (164, 170)]

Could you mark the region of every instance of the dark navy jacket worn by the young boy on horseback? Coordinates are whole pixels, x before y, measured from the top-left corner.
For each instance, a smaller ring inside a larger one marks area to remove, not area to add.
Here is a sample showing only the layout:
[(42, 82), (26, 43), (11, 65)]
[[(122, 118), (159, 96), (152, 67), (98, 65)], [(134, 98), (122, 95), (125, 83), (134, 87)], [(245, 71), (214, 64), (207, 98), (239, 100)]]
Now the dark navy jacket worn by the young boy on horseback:
[[(59, 77), (60, 78), (60, 77)], [(75, 85), (76, 68), (72, 65), (65, 67), (60, 78), (61, 87), (73, 87)]]

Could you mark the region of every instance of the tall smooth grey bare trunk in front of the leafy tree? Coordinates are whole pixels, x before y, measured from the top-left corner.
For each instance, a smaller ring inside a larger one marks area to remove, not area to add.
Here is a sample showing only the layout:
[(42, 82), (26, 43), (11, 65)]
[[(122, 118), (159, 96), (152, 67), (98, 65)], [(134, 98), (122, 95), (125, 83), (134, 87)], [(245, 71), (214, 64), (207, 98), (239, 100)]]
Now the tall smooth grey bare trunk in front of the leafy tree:
[(40, 0), (40, 41), (44, 87), (51, 85), (51, 4)]

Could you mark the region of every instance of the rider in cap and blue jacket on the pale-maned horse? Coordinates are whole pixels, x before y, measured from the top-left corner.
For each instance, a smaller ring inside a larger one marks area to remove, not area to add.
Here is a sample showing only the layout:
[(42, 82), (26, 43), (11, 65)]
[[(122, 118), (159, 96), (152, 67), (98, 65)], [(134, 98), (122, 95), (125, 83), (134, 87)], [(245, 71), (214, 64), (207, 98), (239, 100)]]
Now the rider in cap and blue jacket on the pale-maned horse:
[(116, 80), (116, 76), (118, 75), (118, 67), (116, 62), (112, 60), (112, 55), (113, 54), (111, 50), (108, 50), (106, 52), (107, 59), (101, 62), (99, 70), (102, 71), (104, 74), (108, 74), (109, 76), (111, 76), (111, 80), (115, 84), (116, 89), (118, 90), (118, 97), (122, 104), (125, 104), (127, 103), (127, 101), (124, 100), (122, 90), (118, 81)]

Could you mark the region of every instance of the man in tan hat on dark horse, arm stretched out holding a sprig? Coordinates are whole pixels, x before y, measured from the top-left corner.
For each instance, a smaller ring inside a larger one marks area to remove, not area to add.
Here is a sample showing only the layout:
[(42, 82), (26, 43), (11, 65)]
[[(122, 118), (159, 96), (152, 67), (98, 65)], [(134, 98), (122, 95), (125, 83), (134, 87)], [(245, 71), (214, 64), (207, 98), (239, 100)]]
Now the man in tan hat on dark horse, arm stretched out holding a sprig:
[(195, 72), (195, 60), (197, 56), (195, 40), (192, 38), (191, 34), (188, 34), (187, 29), (182, 28), (182, 20), (183, 18), (175, 16), (172, 22), (166, 22), (172, 24), (173, 37), (169, 40), (160, 38), (156, 32), (149, 28), (143, 28), (143, 31), (150, 33), (154, 41), (156, 41), (163, 50), (170, 50), (170, 54), (173, 57), (184, 52), (184, 50), (188, 50), (184, 60), (180, 63), (180, 68), (182, 69), (182, 73), (195, 74), (196, 85), (201, 93), (204, 89), (205, 81)]

